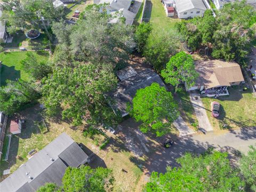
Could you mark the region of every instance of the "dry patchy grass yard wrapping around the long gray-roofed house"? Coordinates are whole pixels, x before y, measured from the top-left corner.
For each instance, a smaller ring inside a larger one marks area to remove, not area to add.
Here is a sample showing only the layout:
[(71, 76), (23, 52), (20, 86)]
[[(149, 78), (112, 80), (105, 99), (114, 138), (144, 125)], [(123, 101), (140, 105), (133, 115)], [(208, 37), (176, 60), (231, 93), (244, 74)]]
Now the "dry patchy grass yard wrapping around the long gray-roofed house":
[[(134, 191), (142, 171), (132, 159), (133, 155), (124, 148), (124, 141), (119, 140), (118, 144), (113, 146), (110, 143), (107, 148), (100, 150), (99, 146), (106, 137), (97, 135), (94, 140), (89, 137), (84, 137), (81, 129), (76, 129), (70, 124), (63, 121), (45, 120), (47, 127), (43, 121), (42, 111), (37, 106), (28, 108), (21, 112), (21, 118), (26, 119), (26, 129), (23, 129), (21, 134), (12, 135), (8, 162), (1, 161), (1, 180), (6, 176), (2, 173), (6, 169), (11, 169), (11, 173), (18, 169), (20, 165), (28, 161), (28, 152), (32, 149), (39, 151), (47, 144), (54, 140), (62, 132), (66, 132), (77, 143), (83, 143), (87, 148), (97, 154), (100, 159), (103, 159), (103, 164), (112, 169), (115, 177), (114, 191)], [(9, 120), (10, 121), (10, 120)], [(7, 130), (9, 129), (7, 124)], [(97, 145), (95, 143), (97, 140)], [(114, 142), (115, 143), (115, 142)], [(97, 167), (101, 165), (98, 158), (90, 163), (91, 166)], [(127, 173), (123, 172), (126, 170)]]

